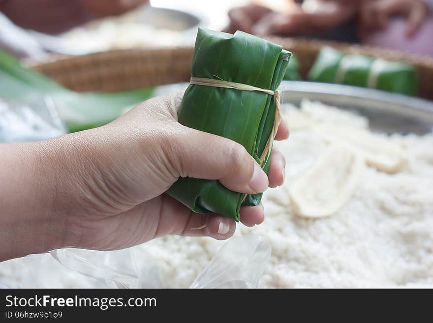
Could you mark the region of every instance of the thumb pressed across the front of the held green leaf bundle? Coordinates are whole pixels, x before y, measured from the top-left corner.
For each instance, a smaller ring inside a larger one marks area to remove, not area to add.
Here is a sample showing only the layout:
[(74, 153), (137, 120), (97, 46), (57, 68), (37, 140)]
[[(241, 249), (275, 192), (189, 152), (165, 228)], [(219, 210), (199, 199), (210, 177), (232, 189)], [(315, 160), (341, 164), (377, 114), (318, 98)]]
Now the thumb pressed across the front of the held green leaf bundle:
[(245, 147), (220, 136), (184, 127), (168, 149), (178, 176), (217, 179), (228, 189), (255, 194), (268, 187), (268, 177)]

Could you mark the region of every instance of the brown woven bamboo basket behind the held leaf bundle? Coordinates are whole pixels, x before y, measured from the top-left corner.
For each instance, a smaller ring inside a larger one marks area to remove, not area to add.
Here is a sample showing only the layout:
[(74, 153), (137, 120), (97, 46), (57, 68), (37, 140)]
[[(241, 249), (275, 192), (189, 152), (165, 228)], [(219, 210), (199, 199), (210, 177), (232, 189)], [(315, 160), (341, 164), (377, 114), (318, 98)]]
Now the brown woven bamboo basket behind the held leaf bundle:
[[(332, 46), (347, 54), (400, 60), (416, 66), (419, 96), (433, 100), (433, 58), (363, 45), (298, 38), (269, 38), (294, 53), (305, 79), (319, 50)], [(63, 57), (34, 67), (66, 88), (76, 91), (121, 91), (187, 82), (193, 48), (131, 49)]]

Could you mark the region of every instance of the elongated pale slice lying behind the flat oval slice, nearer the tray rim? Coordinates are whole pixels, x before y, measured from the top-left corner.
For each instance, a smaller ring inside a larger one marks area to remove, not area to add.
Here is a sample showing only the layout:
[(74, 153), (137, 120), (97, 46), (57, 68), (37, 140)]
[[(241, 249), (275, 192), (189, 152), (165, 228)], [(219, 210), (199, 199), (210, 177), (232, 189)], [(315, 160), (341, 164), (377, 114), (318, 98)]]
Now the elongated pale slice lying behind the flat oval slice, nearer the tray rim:
[(329, 143), (344, 142), (353, 146), (364, 155), (368, 165), (380, 172), (395, 174), (407, 163), (401, 147), (368, 130), (330, 124), (322, 124), (315, 130)]

